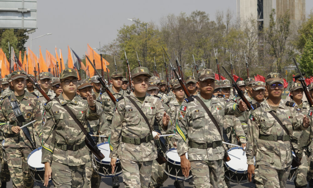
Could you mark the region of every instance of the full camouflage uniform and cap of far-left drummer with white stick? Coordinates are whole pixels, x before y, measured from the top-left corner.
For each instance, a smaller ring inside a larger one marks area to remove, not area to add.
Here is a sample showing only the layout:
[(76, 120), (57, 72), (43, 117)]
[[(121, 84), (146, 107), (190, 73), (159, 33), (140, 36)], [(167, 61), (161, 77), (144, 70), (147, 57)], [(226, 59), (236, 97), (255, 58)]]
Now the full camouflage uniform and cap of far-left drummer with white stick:
[[(24, 71), (14, 71), (12, 79), (26, 78)], [(10, 102), (17, 101), (19, 108), (23, 114), (25, 122), (18, 123), (13, 112)], [(14, 92), (10, 92), (1, 101), (0, 110), (0, 129), (5, 134), (5, 153), (8, 161), (8, 169), (10, 171), (14, 187), (33, 187), (34, 180), (30, 175), (27, 157), (37, 146), (40, 146), (38, 135), (41, 132), (42, 116), (38, 108), (38, 99), (27, 91), (21, 101), (18, 101)], [(13, 133), (12, 126), (22, 126), (28, 122), (36, 120), (33, 125), (27, 127), (34, 147), (25, 136), (23, 130), (18, 134)], [(8, 123), (7, 123), (8, 122)]]

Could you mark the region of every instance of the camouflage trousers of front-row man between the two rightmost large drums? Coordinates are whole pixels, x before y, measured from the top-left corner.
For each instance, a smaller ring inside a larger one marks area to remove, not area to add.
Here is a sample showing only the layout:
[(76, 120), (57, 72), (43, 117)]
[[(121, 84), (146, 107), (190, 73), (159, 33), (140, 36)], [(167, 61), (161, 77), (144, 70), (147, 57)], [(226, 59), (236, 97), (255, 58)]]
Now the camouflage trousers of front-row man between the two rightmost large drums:
[(216, 161), (190, 161), (195, 188), (218, 188), (223, 159)]

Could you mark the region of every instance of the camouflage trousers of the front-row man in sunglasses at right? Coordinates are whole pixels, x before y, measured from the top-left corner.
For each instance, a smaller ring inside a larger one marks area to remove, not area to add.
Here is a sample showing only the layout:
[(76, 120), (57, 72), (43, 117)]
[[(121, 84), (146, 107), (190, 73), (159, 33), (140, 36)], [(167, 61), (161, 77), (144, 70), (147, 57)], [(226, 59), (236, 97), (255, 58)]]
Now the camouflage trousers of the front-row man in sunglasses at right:
[(265, 188), (284, 188), (290, 173), (291, 165), (277, 170), (266, 165), (258, 165), (258, 173), (263, 180)]

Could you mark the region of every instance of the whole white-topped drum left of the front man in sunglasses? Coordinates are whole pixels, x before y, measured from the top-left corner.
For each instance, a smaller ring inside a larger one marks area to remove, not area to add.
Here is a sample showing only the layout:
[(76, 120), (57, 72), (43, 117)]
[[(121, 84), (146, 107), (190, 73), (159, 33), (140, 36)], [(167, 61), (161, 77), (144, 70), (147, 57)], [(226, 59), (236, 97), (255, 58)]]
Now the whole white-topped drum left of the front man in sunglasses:
[(229, 149), (227, 153), (230, 157), (230, 161), (224, 163), (225, 177), (228, 180), (238, 184), (248, 181), (248, 164), (246, 152), (242, 147), (235, 147)]

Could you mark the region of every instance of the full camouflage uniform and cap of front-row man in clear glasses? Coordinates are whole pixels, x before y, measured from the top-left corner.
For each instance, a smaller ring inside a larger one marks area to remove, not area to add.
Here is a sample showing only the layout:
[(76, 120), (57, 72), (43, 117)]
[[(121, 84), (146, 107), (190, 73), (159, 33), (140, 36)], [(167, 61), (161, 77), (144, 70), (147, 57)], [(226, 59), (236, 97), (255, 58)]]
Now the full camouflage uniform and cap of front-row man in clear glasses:
[[(77, 78), (74, 69), (65, 69), (60, 80), (69, 76)], [(87, 101), (75, 96), (72, 101), (59, 97), (48, 102), (43, 111), (43, 138), (41, 163), (49, 162), (54, 187), (83, 187), (85, 168), (90, 164), (90, 153), (85, 145), (85, 134), (63, 107), (67, 105), (87, 129), (87, 120), (97, 120), (102, 113), (95, 103), (96, 112), (90, 110)]]

